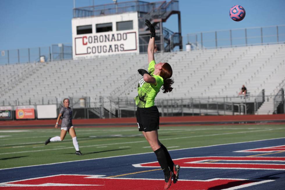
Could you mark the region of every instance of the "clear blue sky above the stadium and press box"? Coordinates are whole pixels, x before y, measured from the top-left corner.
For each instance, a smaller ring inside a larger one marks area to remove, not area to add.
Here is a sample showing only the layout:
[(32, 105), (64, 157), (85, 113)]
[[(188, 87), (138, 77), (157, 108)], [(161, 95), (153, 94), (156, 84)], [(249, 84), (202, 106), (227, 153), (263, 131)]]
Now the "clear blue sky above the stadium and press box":
[[(92, 2), (76, 0), (76, 7), (90, 6)], [(94, 0), (95, 5), (104, 3), (113, 1)], [(246, 10), (241, 22), (229, 17), (229, 9), (236, 4)], [(284, 25), (284, 7), (284, 0), (180, 0), (182, 35)], [(0, 0), (0, 50), (71, 44), (72, 8), (73, 0)], [(178, 31), (177, 16), (170, 17), (163, 26)]]

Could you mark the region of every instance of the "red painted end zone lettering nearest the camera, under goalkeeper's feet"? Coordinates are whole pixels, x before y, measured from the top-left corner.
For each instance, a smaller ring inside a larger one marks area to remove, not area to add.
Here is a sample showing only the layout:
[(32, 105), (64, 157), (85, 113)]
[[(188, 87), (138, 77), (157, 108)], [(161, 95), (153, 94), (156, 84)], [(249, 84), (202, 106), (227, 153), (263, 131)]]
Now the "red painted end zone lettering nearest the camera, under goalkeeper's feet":
[[(21, 182), (13, 182), (12, 184), (44, 184), (44, 183), (67, 183), (67, 184), (101, 184), (103, 186), (63, 186), (63, 187), (0, 187), (0, 189), (20, 189), (20, 190), (74, 190), (74, 189), (86, 189), (86, 190), (154, 190), (163, 189), (164, 180), (143, 180), (143, 179), (110, 179), (110, 178), (86, 178), (88, 176), (80, 175), (61, 175), (55, 177), (44, 177), (34, 180), (25, 180)], [(180, 190), (194, 190), (194, 189), (227, 189), (236, 187), (243, 184), (250, 184), (258, 182), (255, 180), (228, 180), (219, 179), (213, 181), (178, 181), (176, 184), (172, 184), (170, 189)]]

